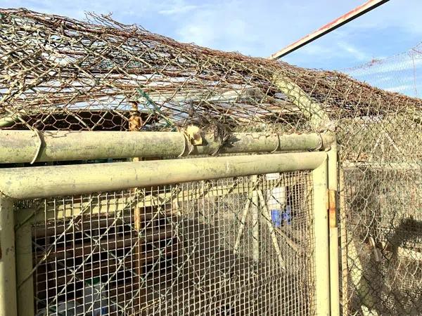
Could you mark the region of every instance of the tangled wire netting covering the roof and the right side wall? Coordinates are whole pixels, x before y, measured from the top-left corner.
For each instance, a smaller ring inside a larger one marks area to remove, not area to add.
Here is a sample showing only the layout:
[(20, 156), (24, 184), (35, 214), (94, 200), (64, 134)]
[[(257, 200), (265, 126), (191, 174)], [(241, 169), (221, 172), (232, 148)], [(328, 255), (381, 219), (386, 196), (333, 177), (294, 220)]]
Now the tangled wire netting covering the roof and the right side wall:
[(422, 313), (421, 99), (88, 18), (0, 10), (1, 129), (333, 131), (343, 314)]

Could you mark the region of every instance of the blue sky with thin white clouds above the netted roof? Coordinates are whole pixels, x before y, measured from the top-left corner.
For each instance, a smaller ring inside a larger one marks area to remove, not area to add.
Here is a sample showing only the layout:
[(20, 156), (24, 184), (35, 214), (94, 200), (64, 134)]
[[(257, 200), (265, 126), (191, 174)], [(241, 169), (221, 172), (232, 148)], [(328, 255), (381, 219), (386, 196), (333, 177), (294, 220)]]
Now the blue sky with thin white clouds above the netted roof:
[[(84, 19), (113, 13), (179, 41), (267, 57), (365, 0), (0, 0)], [(342, 70), (407, 51), (422, 41), (422, 1), (390, 0), (367, 15), (283, 58), (302, 67)]]

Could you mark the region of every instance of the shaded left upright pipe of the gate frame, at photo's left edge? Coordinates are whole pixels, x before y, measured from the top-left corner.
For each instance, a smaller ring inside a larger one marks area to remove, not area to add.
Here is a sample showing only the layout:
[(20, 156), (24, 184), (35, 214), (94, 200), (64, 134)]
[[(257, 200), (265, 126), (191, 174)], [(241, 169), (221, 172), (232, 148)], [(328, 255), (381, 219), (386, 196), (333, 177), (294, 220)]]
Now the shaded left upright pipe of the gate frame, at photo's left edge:
[(17, 315), (13, 201), (0, 195), (0, 316)]

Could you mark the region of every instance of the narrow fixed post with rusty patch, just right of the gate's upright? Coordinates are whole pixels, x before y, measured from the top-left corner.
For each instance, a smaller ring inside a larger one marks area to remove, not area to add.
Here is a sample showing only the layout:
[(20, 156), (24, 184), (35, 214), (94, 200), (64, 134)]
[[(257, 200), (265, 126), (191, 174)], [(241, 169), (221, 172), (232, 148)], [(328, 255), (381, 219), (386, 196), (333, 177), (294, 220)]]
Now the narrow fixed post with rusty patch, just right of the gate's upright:
[(338, 159), (337, 143), (328, 150), (328, 225), (330, 238), (330, 302), (331, 315), (340, 315), (340, 286), (338, 259)]

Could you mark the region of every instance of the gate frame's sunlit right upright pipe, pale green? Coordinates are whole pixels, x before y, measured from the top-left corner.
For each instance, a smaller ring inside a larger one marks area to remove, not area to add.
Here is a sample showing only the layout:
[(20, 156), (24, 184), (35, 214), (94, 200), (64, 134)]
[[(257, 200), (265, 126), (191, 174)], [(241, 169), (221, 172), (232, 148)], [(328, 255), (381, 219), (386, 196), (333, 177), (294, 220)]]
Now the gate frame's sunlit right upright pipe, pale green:
[(330, 267), (327, 211), (327, 161), (312, 171), (314, 204), (314, 283), (316, 315), (330, 315)]

